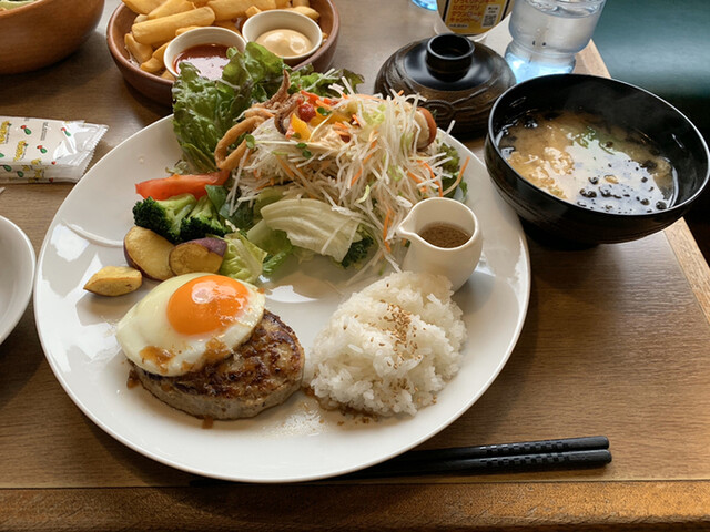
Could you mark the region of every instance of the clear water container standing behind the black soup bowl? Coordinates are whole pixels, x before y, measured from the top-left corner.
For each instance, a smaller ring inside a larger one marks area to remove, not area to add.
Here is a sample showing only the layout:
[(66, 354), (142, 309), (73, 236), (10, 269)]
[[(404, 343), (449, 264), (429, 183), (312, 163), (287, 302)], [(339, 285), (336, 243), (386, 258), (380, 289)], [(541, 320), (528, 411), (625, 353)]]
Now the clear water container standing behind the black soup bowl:
[(575, 69), (606, 0), (516, 0), (505, 59), (518, 82)]

